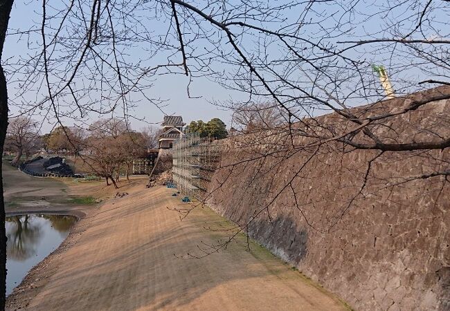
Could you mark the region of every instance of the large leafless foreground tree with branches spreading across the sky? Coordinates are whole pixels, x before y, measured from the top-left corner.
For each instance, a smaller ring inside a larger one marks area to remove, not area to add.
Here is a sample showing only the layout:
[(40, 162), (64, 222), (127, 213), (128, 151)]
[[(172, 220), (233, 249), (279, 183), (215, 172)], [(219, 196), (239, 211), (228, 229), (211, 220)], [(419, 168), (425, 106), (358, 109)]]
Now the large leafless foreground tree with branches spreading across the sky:
[[(0, 1), (2, 53), (12, 2)], [(447, 150), (450, 138), (444, 128), (411, 126), (400, 138), (393, 122), (399, 115), (450, 98), (447, 88), (440, 88), (432, 96), (404, 101), (413, 91), (450, 83), (447, 3), (82, 0), (50, 6), (43, 0), (38, 24), (8, 30), (8, 38), (26, 41), (29, 53), (0, 59), (0, 151), (8, 121), (3, 68), (10, 104), (21, 111), (51, 113), (59, 122), (62, 117), (83, 120), (88, 114), (120, 110), (129, 124), (142, 98), (161, 109), (163, 100), (152, 98), (149, 91), (154, 78), (179, 74), (188, 76), (188, 94), (192, 81), (207, 77), (246, 96), (239, 102), (217, 103), (221, 106), (242, 111), (252, 102), (276, 104), (287, 121), (273, 131), (294, 153), (315, 153), (319, 146), (342, 153)], [(158, 22), (160, 27), (155, 27)], [(143, 55), (138, 62), (136, 55)], [(386, 68), (374, 73), (373, 64)], [(386, 88), (387, 79), (392, 88)], [(35, 104), (21, 104), (27, 92), (37, 97)], [(381, 100), (392, 96), (401, 106), (380, 107)], [(369, 106), (357, 113), (350, 110), (361, 104)], [(317, 117), (328, 112), (337, 117)], [(305, 117), (312, 119), (305, 122)], [(446, 115), (435, 117), (448, 123)], [(291, 153), (273, 140), (268, 142), (271, 146), (260, 157)], [(450, 175), (447, 160), (424, 171), (422, 178), (438, 175)], [(285, 186), (288, 189), (289, 183)], [(0, 199), (4, 223), (1, 189)], [(0, 239), (4, 262), (4, 229)], [(6, 271), (1, 272), (0, 292), (4, 292)], [(4, 296), (0, 307), (3, 303)]]

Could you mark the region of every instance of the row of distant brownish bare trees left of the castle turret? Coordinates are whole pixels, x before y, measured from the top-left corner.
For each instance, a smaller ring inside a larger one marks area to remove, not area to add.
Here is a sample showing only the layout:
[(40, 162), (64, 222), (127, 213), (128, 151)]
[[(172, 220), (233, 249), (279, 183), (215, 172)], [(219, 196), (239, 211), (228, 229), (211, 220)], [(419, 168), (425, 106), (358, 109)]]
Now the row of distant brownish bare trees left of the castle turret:
[(28, 159), (38, 152), (81, 158), (85, 173), (105, 178), (107, 185), (111, 182), (117, 187), (120, 173), (128, 180), (133, 161), (158, 146), (160, 132), (153, 126), (134, 131), (125, 121), (109, 118), (93, 122), (88, 129), (57, 126), (40, 135), (35, 120), (17, 117), (8, 126), (5, 152), (15, 155), (11, 164), (16, 167), (22, 156)]

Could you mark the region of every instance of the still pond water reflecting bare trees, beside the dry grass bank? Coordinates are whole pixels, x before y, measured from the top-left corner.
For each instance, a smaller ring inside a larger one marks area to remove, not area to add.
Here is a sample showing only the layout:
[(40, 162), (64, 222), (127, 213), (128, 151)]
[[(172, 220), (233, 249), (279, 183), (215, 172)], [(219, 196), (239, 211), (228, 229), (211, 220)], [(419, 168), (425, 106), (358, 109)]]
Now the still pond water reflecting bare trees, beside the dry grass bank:
[(6, 294), (10, 294), (33, 266), (64, 241), (75, 220), (66, 215), (6, 217)]

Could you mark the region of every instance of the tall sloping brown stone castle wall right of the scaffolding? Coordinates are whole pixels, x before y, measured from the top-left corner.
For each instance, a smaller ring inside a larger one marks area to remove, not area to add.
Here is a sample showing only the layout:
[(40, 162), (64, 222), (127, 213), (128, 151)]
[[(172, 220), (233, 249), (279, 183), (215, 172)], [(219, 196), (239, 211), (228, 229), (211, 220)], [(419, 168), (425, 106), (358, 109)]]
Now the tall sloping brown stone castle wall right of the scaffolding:
[[(450, 102), (440, 101), (390, 124), (397, 141), (411, 131), (448, 138), (449, 116)], [(321, 122), (339, 124), (336, 115)], [(386, 126), (377, 134), (393, 135)], [(379, 156), (342, 152), (336, 142), (295, 147), (305, 140), (291, 147), (286, 131), (266, 131), (224, 141), (208, 204), (243, 228), (250, 223), (250, 236), (357, 310), (450, 310), (450, 185), (445, 176), (411, 178), (448, 170), (449, 150)]]

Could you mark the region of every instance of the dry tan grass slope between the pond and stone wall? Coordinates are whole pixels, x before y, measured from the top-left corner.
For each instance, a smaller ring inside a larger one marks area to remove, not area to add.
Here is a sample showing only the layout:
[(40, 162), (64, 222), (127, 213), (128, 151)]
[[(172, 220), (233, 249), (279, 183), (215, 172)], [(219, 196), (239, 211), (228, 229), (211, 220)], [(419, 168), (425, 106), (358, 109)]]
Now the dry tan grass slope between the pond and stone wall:
[[(258, 245), (240, 237), (201, 259), (197, 245), (226, 238), (210, 209), (183, 221), (165, 187), (109, 200), (75, 225), (61, 249), (8, 299), (9, 310), (345, 310)], [(177, 255), (177, 256), (174, 256)]]

